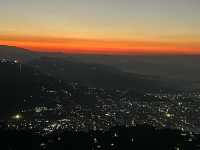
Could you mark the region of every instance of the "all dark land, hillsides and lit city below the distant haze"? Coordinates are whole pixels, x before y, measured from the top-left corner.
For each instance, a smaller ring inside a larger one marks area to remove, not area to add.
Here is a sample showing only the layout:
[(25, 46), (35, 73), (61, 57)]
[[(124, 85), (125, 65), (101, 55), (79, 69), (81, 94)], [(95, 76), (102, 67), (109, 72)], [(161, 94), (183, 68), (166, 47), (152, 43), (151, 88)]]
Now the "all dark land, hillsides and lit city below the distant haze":
[(199, 89), (8, 52), (0, 53), (0, 150), (200, 150)]

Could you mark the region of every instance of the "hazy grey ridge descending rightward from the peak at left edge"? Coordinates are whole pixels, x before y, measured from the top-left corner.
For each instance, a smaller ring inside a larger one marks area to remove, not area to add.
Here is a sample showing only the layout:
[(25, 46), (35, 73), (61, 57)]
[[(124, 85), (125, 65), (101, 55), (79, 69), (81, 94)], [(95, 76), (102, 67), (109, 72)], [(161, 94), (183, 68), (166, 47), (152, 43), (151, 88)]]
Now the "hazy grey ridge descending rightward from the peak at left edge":
[(17, 47), (0, 46), (0, 58), (17, 59), (54, 78), (76, 81), (88, 87), (160, 88), (159, 80), (151, 76), (126, 73), (109, 65), (72, 60), (64, 54), (36, 53)]

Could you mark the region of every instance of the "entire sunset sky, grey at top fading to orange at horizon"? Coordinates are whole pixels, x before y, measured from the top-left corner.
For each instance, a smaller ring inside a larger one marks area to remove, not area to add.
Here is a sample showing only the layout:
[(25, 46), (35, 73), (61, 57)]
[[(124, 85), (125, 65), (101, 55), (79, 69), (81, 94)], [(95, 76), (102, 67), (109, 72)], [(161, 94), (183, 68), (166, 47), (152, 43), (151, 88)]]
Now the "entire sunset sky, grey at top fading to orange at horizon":
[(66, 53), (200, 54), (200, 1), (0, 0), (0, 45)]

